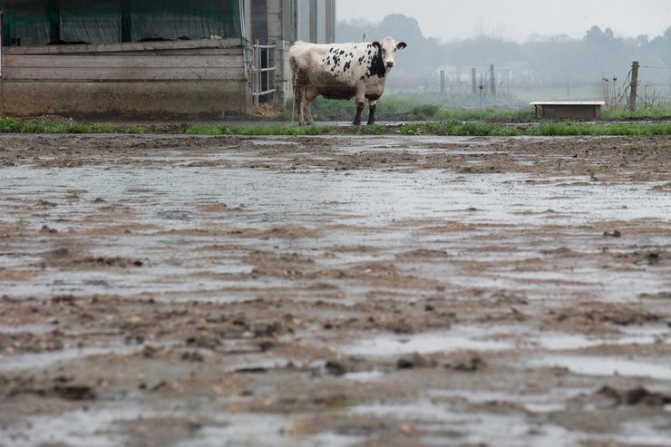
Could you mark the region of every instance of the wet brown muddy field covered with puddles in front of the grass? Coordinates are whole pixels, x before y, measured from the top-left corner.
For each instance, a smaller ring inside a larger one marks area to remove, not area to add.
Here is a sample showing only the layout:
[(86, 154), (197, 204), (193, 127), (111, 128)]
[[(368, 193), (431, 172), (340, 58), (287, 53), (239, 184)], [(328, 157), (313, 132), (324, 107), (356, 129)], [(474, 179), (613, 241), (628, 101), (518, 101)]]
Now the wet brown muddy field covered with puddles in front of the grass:
[(0, 137), (0, 445), (671, 445), (671, 138)]

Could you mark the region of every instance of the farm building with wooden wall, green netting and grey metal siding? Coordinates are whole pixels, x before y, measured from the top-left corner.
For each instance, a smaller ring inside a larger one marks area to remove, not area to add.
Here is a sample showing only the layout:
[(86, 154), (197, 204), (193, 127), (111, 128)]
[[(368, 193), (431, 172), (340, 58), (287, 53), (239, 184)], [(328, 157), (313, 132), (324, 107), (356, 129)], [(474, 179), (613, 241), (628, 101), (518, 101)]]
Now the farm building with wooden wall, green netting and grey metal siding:
[(335, 29), (335, 0), (0, 0), (0, 10), (0, 112), (15, 116), (249, 112), (255, 98), (290, 95), (292, 42), (332, 42)]

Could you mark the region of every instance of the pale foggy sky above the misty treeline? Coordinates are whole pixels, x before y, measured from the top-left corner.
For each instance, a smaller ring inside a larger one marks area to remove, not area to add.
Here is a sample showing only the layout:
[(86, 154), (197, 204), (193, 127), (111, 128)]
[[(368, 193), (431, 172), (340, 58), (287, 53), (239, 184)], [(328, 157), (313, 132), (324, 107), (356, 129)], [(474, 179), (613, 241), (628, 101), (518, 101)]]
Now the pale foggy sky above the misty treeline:
[(582, 37), (595, 24), (617, 36), (652, 38), (671, 26), (671, 0), (336, 0), (336, 8), (338, 20), (409, 15), (425, 36), (444, 41), (481, 32), (518, 42), (531, 34)]

